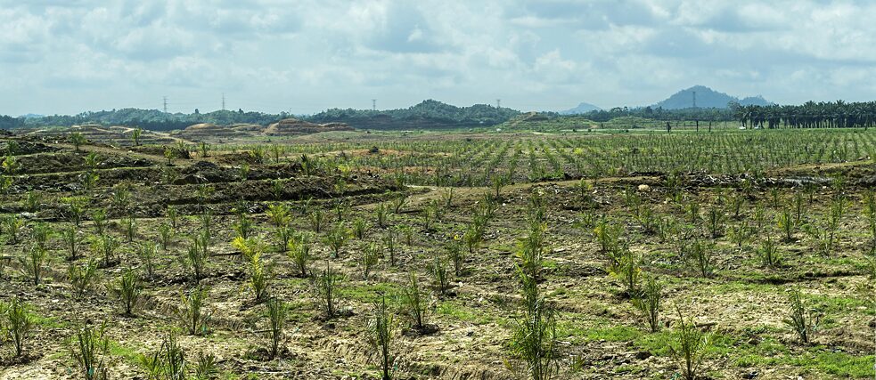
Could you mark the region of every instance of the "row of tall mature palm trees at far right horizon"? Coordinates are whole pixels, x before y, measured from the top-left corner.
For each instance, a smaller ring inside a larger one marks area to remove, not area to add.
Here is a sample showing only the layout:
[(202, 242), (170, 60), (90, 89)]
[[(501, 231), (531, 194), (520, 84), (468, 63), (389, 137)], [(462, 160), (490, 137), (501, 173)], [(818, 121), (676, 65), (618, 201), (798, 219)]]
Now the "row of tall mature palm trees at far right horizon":
[(743, 126), (762, 128), (854, 128), (873, 126), (876, 101), (806, 101), (799, 106), (732, 105), (733, 117)]

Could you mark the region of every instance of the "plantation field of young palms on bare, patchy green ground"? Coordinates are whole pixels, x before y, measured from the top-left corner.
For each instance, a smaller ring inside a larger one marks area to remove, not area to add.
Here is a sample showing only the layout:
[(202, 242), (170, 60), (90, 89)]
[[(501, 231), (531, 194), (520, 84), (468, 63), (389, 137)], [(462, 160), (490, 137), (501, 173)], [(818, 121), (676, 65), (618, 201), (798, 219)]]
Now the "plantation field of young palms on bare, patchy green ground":
[(0, 137), (0, 378), (871, 378), (876, 133), (700, 128)]

